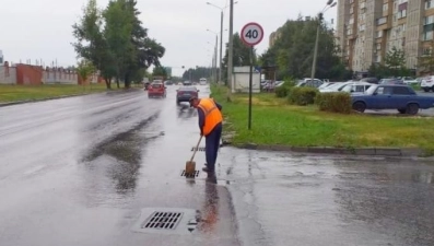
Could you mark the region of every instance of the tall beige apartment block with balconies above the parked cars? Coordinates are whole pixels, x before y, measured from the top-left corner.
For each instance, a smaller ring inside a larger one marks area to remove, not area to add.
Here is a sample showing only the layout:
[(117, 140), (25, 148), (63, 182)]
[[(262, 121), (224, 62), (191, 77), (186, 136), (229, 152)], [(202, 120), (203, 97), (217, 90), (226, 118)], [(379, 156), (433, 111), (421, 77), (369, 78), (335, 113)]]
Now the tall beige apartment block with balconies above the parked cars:
[(340, 0), (337, 35), (342, 59), (357, 73), (384, 62), (392, 47), (406, 52), (409, 69), (431, 50), (434, 0)]

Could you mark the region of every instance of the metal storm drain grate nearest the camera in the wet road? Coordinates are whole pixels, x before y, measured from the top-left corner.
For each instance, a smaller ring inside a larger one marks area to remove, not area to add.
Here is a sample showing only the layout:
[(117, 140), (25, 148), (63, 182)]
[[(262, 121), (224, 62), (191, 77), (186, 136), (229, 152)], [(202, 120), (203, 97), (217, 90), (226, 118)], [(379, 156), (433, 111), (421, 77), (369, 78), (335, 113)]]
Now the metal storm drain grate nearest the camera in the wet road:
[(175, 230), (180, 219), (183, 218), (181, 212), (159, 212), (155, 211), (151, 214), (149, 220), (143, 222), (142, 229), (162, 229), (162, 230)]

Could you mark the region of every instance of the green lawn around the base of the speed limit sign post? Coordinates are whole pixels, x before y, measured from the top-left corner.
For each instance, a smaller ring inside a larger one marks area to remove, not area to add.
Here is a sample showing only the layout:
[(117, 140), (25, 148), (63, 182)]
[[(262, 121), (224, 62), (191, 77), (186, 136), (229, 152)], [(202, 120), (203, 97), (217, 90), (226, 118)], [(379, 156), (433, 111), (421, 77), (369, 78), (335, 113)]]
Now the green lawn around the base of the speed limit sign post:
[(227, 103), (226, 87), (213, 85), (211, 91), (223, 105), (228, 121), (224, 131), (236, 132), (234, 144), (392, 147), (434, 151), (433, 118), (331, 114), (319, 112), (316, 106), (288, 105), (285, 98), (268, 93), (254, 95), (251, 130), (248, 130), (248, 95), (233, 94), (232, 102)]

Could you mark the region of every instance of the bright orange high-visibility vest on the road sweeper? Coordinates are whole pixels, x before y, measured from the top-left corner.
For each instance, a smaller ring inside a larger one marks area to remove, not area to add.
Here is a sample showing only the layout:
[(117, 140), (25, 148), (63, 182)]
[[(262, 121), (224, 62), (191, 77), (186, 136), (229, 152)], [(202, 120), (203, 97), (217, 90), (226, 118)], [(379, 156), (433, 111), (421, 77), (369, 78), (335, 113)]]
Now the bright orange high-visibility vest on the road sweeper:
[(201, 108), (204, 114), (202, 133), (203, 136), (208, 136), (218, 124), (223, 121), (222, 113), (211, 98), (201, 98), (198, 107)]

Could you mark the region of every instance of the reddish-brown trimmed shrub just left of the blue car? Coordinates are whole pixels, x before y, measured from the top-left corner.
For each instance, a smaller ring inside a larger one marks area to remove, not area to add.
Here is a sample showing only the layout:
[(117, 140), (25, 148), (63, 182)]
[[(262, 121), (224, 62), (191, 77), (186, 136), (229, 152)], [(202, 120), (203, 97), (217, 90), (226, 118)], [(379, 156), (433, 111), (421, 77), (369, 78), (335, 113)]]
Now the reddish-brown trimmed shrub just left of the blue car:
[(351, 95), (345, 92), (327, 92), (318, 93), (315, 97), (315, 103), (318, 105), (319, 110), (332, 112), (340, 114), (350, 114)]

